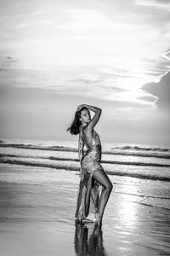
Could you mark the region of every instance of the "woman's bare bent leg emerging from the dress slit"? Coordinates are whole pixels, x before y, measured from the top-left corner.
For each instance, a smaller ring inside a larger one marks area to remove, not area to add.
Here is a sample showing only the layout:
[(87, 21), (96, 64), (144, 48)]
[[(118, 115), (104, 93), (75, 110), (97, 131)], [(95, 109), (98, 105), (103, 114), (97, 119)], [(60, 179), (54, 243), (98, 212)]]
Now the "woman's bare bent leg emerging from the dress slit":
[(104, 189), (100, 195), (99, 212), (97, 212), (95, 214), (95, 217), (97, 218), (98, 223), (101, 224), (103, 214), (105, 211), (105, 206), (106, 206), (107, 201), (111, 195), (111, 190), (113, 189), (113, 185), (111, 183), (111, 180), (107, 176), (107, 174), (102, 170), (94, 172), (93, 177), (99, 184), (101, 184), (104, 187)]

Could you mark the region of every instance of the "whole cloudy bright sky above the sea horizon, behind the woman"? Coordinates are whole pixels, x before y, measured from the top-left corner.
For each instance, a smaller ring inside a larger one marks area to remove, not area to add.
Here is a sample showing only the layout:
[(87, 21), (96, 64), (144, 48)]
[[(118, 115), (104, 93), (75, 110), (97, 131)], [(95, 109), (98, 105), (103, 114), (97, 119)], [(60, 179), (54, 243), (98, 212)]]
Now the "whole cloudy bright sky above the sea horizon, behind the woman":
[[(170, 145), (169, 0), (0, 0), (0, 138)], [(92, 117), (94, 113), (92, 112)]]

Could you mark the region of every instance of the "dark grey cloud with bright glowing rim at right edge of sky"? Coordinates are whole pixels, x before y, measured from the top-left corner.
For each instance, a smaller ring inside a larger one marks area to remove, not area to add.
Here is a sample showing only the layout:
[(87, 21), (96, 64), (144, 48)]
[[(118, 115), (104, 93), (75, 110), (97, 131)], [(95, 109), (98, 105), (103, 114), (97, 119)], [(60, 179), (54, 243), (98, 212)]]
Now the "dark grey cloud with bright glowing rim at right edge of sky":
[(158, 108), (170, 108), (170, 70), (163, 76), (158, 83), (144, 84), (143, 90), (157, 97), (156, 105)]

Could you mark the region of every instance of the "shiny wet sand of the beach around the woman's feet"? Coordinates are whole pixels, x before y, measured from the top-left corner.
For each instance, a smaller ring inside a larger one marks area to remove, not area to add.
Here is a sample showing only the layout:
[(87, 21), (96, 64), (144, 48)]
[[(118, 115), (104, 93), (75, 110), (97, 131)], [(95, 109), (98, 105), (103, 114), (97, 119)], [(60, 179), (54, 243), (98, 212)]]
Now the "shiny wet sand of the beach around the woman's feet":
[(77, 172), (2, 164), (1, 255), (170, 255), (170, 210), (140, 196), (156, 195), (161, 183), (110, 178), (114, 189), (100, 229), (75, 224)]

